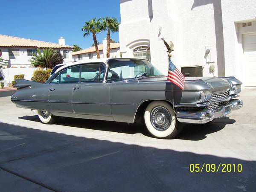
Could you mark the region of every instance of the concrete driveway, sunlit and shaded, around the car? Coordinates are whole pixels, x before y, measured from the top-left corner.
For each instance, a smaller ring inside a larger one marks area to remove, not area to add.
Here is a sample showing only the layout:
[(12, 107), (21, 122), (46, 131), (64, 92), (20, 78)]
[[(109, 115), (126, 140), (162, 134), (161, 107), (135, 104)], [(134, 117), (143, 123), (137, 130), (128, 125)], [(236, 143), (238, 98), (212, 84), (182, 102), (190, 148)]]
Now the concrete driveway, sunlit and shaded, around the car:
[[(61, 118), (43, 125), (35, 111), (0, 98), (0, 191), (255, 191), (256, 88), (244, 108), (174, 140), (125, 123)], [(190, 172), (191, 163), (242, 165), (241, 172)]]

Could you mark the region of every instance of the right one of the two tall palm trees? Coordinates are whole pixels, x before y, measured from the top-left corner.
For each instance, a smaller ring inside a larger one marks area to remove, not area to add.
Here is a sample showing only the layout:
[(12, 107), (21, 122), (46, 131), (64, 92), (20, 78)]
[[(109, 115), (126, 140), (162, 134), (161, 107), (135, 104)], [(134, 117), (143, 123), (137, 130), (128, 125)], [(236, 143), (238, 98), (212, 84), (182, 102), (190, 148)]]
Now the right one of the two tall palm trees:
[(105, 17), (102, 18), (102, 29), (107, 30), (107, 58), (109, 58), (110, 52), (110, 32), (115, 33), (118, 32), (119, 22), (116, 18)]

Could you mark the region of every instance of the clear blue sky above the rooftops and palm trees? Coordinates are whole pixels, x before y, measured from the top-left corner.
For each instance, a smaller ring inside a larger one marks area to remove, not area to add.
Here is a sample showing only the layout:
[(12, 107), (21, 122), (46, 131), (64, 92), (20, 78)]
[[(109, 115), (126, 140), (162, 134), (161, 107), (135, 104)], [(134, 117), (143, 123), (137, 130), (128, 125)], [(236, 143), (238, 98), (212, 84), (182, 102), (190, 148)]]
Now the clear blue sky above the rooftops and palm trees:
[[(0, 3), (0, 34), (66, 45), (77, 44), (85, 49), (93, 44), (92, 35), (83, 37), (84, 21), (93, 17), (114, 17), (120, 22), (119, 0), (3, 0)], [(96, 35), (97, 41), (107, 32)], [(111, 39), (119, 41), (118, 32)]]

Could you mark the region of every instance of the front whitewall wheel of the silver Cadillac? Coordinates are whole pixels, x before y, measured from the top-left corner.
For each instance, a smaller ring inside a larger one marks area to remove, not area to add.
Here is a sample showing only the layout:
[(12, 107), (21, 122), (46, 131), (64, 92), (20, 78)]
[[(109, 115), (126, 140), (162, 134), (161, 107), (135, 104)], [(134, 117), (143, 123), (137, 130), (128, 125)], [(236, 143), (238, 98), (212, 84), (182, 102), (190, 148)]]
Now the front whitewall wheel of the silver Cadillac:
[(177, 121), (172, 106), (164, 101), (151, 102), (145, 109), (144, 121), (149, 133), (162, 139), (176, 137), (183, 127)]

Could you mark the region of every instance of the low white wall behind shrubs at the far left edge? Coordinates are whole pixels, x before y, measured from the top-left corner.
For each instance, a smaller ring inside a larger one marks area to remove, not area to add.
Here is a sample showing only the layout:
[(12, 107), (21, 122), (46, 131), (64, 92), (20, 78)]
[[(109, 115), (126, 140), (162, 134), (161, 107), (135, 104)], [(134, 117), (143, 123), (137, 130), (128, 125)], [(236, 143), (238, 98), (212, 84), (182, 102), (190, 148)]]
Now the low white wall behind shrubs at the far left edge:
[(5, 86), (8, 85), (8, 83), (11, 83), (15, 75), (24, 74), (24, 79), (31, 80), (34, 70), (38, 68), (7, 68), (7, 69), (1, 69), (1, 76), (3, 76), (3, 80), (5, 81)]

